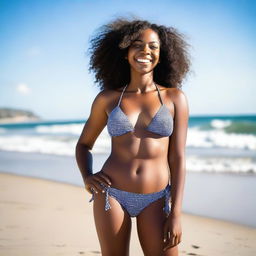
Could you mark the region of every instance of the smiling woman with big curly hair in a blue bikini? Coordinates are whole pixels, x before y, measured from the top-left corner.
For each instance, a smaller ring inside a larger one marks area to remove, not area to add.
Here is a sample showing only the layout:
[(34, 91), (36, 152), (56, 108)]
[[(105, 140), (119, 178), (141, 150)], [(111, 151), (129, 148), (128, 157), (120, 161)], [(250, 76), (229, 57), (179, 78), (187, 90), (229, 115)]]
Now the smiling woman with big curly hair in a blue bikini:
[[(90, 69), (101, 92), (76, 158), (93, 194), (103, 256), (129, 255), (131, 217), (146, 256), (178, 255), (189, 117), (179, 88), (189, 70), (186, 48), (176, 29), (143, 20), (118, 19), (91, 39)], [(106, 125), (111, 153), (93, 174), (90, 151)]]

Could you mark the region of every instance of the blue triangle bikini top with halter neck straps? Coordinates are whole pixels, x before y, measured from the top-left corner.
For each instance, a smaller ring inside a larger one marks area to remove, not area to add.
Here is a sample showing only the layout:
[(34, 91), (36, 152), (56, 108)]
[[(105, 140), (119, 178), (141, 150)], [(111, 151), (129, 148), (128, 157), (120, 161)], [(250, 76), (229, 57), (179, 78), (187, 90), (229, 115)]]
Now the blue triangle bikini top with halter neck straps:
[[(131, 124), (128, 116), (120, 108), (120, 103), (127, 85), (124, 87), (121, 93), (117, 106), (111, 111), (108, 117), (107, 129), (111, 137), (121, 136), (125, 133), (134, 131), (134, 127)], [(161, 107), (158, 109), (157, 113), (152, 118), (146, 130), (158, 134), (162, 137), (167, 137), (170, 136), (173, 131), (173, 117), (170, 114), (170, 111), (167, 108), (167, 106), (163, 104), (163, 100), (161, 98), (158, 86), (156, 84), (155, 86), (159, 94)]]

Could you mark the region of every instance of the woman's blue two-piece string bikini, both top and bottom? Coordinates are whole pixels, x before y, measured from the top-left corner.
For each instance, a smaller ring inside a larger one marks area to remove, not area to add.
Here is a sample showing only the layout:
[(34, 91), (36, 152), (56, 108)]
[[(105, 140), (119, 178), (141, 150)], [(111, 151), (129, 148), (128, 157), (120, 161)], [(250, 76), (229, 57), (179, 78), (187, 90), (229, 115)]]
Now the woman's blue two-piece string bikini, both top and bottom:
[[(155, 116), (152, 118), (146, 130), (161, 137), (167, 137), (170, 136), (173, 132), (173, 118), (170, 114), (169, 109), (163, 103), (158, 86), (156, 84), (155, 86), (158, 91), (161, 106)], [(121, 136), (128, 132), (134, 131), (134, 127), (131, 124), (129, 118), (120, 108), (120, 103), (126, 87), (127, 85), (124, 87), (121, 93), (117, 106), (111, 111), (108, 117), (107, 129), (111, 137)], [(130, 217), (138, 216), (141, 211), (149, 206), (151, 203), (165, 197), (165, 205), (163, 207), (163, 211), (167, 215), (170, 213), (169, 199), (171, 186), (169, 184), (166, 186), (165, 189), (159, 192), (149, 194), (133, 193), (112, 187), (106, 187), (103, 184), (101, 185), (105, 191), (105, 211), (111, 209), (111, 205), (109, 203), (109, 196), (115, 198), (119, 202), (121, 207), (128, 212)], [(94, 192), (92, 191), (92, 198), (89, 202), (93, 200)]]

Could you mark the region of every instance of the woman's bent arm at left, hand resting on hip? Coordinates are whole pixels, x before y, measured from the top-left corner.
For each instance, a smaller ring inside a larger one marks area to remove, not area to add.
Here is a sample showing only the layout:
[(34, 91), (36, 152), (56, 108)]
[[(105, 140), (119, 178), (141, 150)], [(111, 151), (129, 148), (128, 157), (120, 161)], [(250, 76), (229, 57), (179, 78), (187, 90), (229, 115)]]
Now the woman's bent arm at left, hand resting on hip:
[(76, 161), (82, 174), (85, 188), (88, 192), (96, 193), (102, 191), (101, 183), (105, 186), (111, 185), (109, 177), (104, 173), (93, 174), (92, 153), (93, 145), (107, 123), (107, 99), (105, 93), (100, 92), (94, 99), (91, 106), (91, 113), (84, 125), (83, 131), (76, 145)]

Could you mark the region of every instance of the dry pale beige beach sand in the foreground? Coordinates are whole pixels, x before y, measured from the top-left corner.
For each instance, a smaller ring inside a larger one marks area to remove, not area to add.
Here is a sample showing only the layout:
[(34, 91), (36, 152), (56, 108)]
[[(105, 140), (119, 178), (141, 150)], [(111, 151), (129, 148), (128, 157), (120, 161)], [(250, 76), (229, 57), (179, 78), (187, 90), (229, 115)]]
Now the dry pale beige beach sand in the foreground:
[[(0, 174), (0, 255), (101, 255), (88, 200), (82, 187)], [(130, 255), (142, 256), (135, 222)], [(180, 256), (256, 255), (255, 228), (185, 213), (182, 228)]]

